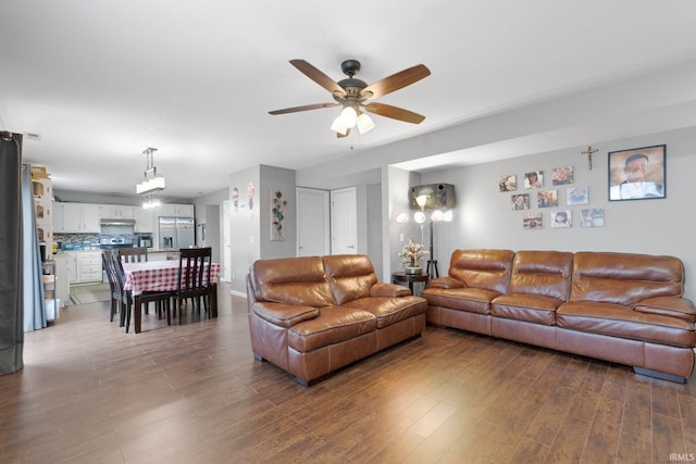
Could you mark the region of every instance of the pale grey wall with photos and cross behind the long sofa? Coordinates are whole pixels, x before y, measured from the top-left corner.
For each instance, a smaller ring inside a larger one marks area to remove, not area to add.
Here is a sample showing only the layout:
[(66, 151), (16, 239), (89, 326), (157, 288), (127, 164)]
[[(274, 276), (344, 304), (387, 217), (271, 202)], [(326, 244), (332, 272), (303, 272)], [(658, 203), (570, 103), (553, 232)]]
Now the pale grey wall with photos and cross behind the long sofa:
[[(608, 152), (655, 145), (667, 145), (667, 198), (655, 200), (608, 201)], [(691, 181), (696, 173), (696, 128), (592, 143), (599, 151), (588, 171), (585, 146), (538, 153), (506, 161), (477, 164), (423, 174), (422, 180), (456, 186), (457, 210), (450, 224), (437, 224), (436, 256), (440, 275), (447, 272), (451, 252), (458, 248), (505, 248), (512, 250), (618, 251), (630, 253), (669, 254), (684, 262), (685, 292), (696, 300), (696, 229), (694, 191)], [(589, 203), (566, 205), (566, 187), (558, 186), (559, 209), (573, 212), (571, 228), (550, 228), (549, 211), (532, 201), (529, 212), (543, 212), (544, 228), (522, 228), (523, 211), (511, 211), (510, 192), (499, 192), (500, 175), (518, 175), (518, 192), (524, 190), (521, 178), (531, 171), (544, 171), (545, 189), (550, 186), (554, 167), (572, 165), (574, 186), (588, 186)], [(583, 208), (602, 208), (604, 227), (580, 227), (575, 221)], [(442, 226), (442, 227), (437, 227)]]

